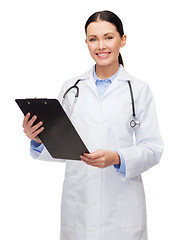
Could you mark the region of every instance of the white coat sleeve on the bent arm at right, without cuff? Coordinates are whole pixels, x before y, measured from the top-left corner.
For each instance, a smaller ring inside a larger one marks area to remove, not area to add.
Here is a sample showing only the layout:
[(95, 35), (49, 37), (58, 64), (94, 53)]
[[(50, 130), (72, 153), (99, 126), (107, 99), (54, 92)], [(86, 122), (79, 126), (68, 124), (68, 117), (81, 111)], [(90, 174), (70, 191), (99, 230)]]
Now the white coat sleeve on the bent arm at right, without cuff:
[(155, 103), (147, 85), (138, 96), (136, 111), (141, 126), (134, 130), (135, 145), (119, 149), (125, 159), (126, 173), (121, 174), (124, 180), (136, 177), (158, 164), (163, 152)]

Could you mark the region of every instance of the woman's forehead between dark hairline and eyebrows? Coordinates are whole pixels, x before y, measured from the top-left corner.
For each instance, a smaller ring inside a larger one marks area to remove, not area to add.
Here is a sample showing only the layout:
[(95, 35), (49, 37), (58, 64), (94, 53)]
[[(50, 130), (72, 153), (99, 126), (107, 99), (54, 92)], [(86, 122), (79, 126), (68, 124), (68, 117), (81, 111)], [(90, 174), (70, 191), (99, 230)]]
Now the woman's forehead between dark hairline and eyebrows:
[(112, 23), (107, 21), (92, 22), (87, 27), (87, 36), (104, 35), (108, 32), (117, 33), (117, 29)]

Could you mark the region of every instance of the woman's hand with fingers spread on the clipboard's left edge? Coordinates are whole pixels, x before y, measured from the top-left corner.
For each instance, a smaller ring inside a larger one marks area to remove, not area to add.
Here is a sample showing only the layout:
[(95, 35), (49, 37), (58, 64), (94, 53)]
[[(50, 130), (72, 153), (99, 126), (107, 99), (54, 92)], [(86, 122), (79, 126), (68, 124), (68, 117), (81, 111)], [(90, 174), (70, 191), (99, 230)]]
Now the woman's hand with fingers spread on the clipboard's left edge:
[(37, 119), (37, 116), (36, 115), (33, 116), (30, 120), (29, 120), (29, 118), (30, 118), (30, 113), (27, 113), (23, 120), (23, 125), (22, 125), (24, 128), (23, 131), (25, 132), (25, 134), (28, 138), (41, 144), (42, 141), (38, 137), (38, 134), (44, 130), (44, 127), (41, 127), (43, 125), (43, 122), (40, 121), (39, 123), (37, 123), (36, 125), (33, 126), (33, 123)]

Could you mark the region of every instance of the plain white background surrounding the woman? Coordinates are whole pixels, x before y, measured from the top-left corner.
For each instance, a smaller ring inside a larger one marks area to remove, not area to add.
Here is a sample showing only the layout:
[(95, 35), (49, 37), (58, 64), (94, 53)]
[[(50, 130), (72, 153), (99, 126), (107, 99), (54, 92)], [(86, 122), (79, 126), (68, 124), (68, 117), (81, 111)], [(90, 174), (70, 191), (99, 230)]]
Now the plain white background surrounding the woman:
[(123, 21), (125, 68), (150, 85), (165, 144), (161, 163), (143, 174), (149, 239), (185, 239), (183, 1), (1, 0), (2, 240), (59, 237), (65, 165), (30, 158), (14, 99), (57, 98), (63, 81), (88, 70), (94, 62), (84, 25), (92, 13), (105, 9)]

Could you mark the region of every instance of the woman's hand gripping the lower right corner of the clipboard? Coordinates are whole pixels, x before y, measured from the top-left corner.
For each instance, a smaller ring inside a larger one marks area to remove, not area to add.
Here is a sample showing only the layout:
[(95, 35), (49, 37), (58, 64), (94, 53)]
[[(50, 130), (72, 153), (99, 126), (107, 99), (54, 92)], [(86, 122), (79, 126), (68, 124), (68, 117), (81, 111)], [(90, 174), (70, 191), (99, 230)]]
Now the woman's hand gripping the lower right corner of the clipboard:
[(120, 157), (117, 152), (99, 149), (92, 153), (84, 153), (81, 160), (93, 167), (105, 168), (114, 164), (120, 164)]

